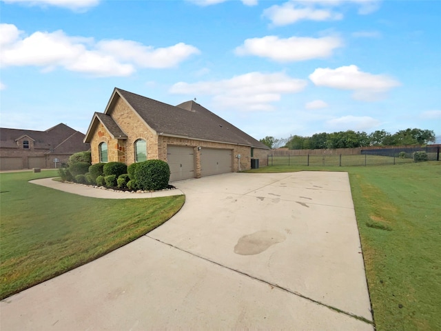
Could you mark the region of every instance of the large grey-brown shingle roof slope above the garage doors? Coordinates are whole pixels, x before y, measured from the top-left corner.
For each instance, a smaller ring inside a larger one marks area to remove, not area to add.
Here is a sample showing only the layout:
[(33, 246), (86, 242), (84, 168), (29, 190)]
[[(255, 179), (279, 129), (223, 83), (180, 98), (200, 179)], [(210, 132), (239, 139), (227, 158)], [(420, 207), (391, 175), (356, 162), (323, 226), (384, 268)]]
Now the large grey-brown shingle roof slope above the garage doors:
[[(231, 123), (194, 101), (171, 106), (119, 88), (115, 91), (158, 134), (187, 137), (268, 149)], [(108, 109), (108, 108), (107, 108)]]

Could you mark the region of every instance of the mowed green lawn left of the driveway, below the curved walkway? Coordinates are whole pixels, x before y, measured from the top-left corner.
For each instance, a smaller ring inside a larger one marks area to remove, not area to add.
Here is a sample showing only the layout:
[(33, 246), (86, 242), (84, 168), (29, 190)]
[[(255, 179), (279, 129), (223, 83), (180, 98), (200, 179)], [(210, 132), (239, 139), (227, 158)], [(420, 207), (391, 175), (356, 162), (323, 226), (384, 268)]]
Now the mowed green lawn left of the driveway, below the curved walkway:
[(0, 174), (1, 299), (141, 237), (185, 201), (94, 199), (28, 183), (55, 176), (57, 170)]

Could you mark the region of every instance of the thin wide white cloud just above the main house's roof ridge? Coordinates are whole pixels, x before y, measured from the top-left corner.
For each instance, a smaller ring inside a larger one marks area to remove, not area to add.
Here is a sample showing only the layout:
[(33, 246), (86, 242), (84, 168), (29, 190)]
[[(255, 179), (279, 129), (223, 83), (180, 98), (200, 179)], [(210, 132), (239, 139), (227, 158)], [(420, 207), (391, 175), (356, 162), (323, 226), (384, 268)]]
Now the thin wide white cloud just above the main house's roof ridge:
[(263, 74), (249, 72), (220, 81), (176, 83), (170, 88), (174, 94), (212, 95), (219, 107), (244, 111), (274, 110), (271, 103), (279, 101), (282, 94), (300, 92), (307, 81), (294, 79), (283, 72)]

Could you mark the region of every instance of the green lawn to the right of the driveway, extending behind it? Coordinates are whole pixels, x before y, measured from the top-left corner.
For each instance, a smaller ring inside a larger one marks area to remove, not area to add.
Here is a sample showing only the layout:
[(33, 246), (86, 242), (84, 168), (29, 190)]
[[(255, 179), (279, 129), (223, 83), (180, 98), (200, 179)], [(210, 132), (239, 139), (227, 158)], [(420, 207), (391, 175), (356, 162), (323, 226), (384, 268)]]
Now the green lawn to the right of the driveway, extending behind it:
[(347, 171), (376, 330), (441, 330), (441, 162)]

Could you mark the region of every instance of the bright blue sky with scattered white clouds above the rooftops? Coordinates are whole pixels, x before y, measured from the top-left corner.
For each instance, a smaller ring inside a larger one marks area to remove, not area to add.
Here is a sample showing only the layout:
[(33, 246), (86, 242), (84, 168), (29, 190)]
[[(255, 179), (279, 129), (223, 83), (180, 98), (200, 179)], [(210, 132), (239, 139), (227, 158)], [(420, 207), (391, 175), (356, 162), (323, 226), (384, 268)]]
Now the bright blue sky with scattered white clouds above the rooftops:
[(256, 139), (441, 134), (441, 1), (0, 1), (1, 127), (85, 132), (114, 87)]

